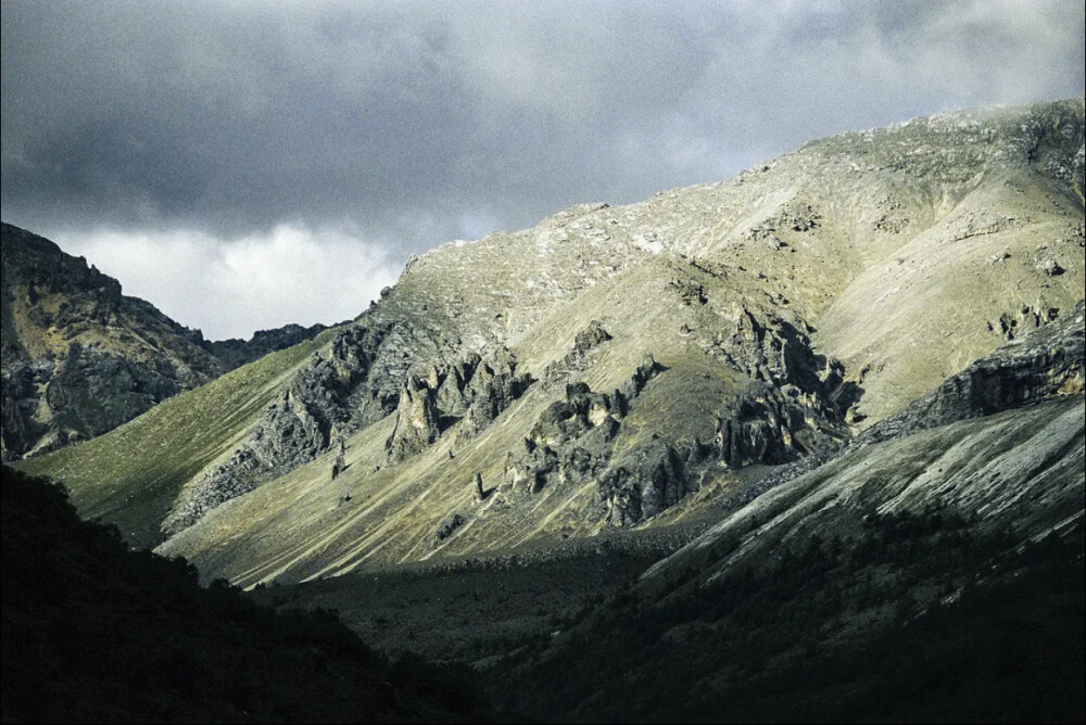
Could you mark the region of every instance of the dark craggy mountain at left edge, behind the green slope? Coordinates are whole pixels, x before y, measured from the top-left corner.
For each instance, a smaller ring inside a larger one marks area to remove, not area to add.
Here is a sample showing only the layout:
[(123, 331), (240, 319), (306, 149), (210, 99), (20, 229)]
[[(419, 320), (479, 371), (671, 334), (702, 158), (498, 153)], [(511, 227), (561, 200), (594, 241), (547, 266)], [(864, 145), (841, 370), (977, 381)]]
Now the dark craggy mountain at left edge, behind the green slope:
[(4, 460), (101, 435), (325, 329), (207, 342), (42, 237), (4, 224), (0, 241)]

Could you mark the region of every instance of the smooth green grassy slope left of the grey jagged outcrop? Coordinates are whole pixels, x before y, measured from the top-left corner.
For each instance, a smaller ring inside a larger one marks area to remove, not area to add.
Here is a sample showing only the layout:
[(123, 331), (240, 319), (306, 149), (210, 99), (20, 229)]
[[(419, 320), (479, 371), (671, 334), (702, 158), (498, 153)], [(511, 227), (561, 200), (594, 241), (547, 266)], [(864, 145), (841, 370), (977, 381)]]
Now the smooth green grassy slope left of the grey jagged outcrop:
[(117, 524), (134, 546), (152, 547), (162, 540), (159, 524), (185, 483), (232, 450), (290, 376), (333, 334), (273, 353), (106, 435), (18, 468), (63, 481), (83, 516)]

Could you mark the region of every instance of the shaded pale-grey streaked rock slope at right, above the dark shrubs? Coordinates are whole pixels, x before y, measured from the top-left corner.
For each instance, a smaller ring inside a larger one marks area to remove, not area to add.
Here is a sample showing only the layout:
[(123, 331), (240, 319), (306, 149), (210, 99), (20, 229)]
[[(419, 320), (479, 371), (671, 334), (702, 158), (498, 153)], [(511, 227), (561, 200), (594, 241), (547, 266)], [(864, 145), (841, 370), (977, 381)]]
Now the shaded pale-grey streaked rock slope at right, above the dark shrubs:
[(992, 531), (1012, 527), (1020, 540), (1074, 526), (1086, 509), (1084, 326), (1079, 302), (1059, 322), (1002, 345), (815, 471), (724, 518), (649, 570), (644, 585), (694, 562), (720, 576), (788, 542), (858, 531), (872, 513), (938, 510)]

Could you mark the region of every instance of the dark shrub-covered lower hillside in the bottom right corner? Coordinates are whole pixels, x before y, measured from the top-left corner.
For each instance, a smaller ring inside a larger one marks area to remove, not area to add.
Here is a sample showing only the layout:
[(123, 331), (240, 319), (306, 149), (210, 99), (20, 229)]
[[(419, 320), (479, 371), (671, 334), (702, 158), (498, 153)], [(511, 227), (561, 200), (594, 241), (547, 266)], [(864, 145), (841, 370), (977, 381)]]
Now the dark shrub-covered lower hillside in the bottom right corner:
[(873, 516), (727, 581), (624, 592), (488, 682), (547, 722), (1081, 723), (1083, 532), (1015, 548)]

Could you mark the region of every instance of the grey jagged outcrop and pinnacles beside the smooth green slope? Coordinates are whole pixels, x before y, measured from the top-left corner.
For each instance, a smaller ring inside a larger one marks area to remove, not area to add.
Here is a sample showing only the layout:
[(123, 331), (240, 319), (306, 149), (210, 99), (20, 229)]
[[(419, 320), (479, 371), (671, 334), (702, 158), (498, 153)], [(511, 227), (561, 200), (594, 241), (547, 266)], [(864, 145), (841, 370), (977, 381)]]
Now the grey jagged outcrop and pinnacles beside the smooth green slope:
[(340, 436), (393, 411), (395, 427), (386, 443), (391, 462), (425, 450), (462, 419), (457, 440), (470, 438), (531, 383), (529, 376), (517, 373), (513, 353), (498, 348), (487, 358), (469, 354), (447, 367), (431, 365), (422, 377), (406, 373), (393, 397), (390, 383), (400, 373), (388, 366), (389, 347), (402, 339), (388, 325), (359, 322), (343, 330), (326, 355), (315, 354), (294, 376), (245, 443), (187, 488), (163, 532), (182, 531), (213, 508), (312, 461)]

